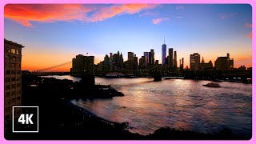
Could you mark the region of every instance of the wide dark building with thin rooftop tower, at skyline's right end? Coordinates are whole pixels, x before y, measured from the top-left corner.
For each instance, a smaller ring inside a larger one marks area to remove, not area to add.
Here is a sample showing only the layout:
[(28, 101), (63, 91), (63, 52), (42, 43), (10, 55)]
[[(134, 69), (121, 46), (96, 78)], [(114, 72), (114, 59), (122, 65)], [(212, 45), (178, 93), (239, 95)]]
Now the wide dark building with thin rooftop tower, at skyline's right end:
[(234, 59), (230, 58), (230, 54), (227, 53), (226, 57), (218, 57), (214, 65), (216, 70), (233, 70)]

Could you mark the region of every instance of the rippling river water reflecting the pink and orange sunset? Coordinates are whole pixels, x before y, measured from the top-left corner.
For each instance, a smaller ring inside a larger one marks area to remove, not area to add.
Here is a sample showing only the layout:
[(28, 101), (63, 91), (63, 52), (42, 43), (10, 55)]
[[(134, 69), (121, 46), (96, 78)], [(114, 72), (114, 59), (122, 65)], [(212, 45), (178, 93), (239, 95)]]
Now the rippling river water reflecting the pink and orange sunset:
[[(78, 81), (71, 76), (48, 76)], [(252, 85), (219, 82), (221, 88), (202, 86), (210, 81), (153, 78), (96, 78), (111, 84), (124, 97), (72, 102), (112, 122), (129, 122), (138, 134), (154, 133), (160, 127), (214, 133), (227, 128), (236, 134), (251, 134)]]

